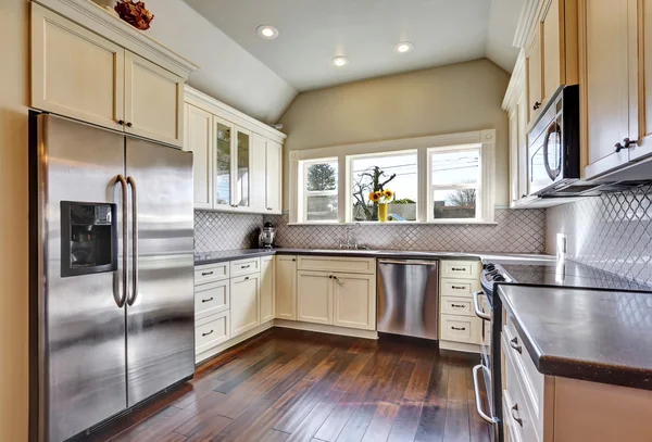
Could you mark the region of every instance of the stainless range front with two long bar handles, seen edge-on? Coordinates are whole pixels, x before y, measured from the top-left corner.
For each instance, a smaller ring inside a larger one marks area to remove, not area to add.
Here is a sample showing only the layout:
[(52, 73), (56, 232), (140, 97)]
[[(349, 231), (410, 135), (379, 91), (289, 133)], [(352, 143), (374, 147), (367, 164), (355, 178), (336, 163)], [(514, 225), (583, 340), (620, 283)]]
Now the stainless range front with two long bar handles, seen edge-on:
[[(498, 440), (498, 418), (493, 409), (493, 382), (491, 380), (491, 323), (493, 310), (482, 290), (473, 294), (474, 311), (476, 316), (482, 320), (482, 337), (480, 345), (480, 364), (473, 369), (473, 381), (478, 415), (492, 426), (492, 438)], [(481, 392), (487, 397), (482, 400)]]

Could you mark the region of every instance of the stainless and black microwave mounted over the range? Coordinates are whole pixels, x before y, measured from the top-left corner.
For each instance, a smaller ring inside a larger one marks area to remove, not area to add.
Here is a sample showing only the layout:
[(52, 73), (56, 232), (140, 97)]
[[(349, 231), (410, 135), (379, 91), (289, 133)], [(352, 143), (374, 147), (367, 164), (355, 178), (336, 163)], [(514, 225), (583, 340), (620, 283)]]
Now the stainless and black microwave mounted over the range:
[(581, 194), (592, 185), (579, 180), (579, 86), (551, 100), (528, 134), (528, 194)]

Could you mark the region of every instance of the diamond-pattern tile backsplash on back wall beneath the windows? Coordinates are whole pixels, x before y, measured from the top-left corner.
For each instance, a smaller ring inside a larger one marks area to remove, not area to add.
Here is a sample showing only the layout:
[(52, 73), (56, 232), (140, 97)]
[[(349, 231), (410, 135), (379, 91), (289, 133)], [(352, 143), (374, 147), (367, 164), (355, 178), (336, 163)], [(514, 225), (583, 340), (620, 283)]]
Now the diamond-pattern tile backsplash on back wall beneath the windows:
[[(277, 228), (283, 248), (335, 249), (344, 238), (344, 226), (288, 226), (287, 215), (265, 215)], [(543, 253), (546, 212), (543, 210), (496, 210), (498, 225), (362, 225), (353, 236), (369, 249)]]

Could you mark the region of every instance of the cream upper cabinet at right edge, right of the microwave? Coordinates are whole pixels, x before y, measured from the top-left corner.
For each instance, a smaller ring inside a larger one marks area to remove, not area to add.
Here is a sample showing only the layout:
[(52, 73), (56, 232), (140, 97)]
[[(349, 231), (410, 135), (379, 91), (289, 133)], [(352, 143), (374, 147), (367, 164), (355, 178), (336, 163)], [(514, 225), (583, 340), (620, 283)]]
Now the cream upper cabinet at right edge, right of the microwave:
[(589, 179), (652, 153), (652, 1), (579, 5), (581, 146)]

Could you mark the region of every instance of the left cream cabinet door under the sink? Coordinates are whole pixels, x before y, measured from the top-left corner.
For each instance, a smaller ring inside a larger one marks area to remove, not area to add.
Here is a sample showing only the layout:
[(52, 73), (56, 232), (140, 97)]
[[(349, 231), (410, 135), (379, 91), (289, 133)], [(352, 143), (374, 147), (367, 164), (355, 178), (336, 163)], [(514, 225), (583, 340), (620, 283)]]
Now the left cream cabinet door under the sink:
[(297, 274), (297, 320), (333, 324), (333, 275), (324, 271)]

